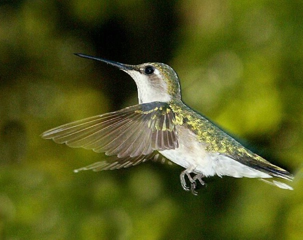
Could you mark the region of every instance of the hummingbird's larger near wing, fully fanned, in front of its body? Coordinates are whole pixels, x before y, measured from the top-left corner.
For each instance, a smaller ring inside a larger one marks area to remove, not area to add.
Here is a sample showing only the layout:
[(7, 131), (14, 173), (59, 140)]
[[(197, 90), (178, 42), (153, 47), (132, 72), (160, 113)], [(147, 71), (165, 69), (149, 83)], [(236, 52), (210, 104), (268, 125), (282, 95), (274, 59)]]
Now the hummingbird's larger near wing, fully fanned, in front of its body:
[(133, 158), (153, 150), (177, 148), (174, 122), (168, 104), (155, 101), (67, 123), (41, 136), (71, 147)]

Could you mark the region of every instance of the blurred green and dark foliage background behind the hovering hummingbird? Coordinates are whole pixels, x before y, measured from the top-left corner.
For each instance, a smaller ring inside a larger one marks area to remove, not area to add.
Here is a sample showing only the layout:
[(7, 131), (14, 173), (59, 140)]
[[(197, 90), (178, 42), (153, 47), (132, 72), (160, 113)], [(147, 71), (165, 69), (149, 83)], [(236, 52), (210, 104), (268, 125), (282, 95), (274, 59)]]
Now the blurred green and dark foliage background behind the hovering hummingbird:
[[(2, 0), (0, 239), (303, 239), (303, 1)], [(177, 165), (102, 172), (39, 134), (136, 104), (136, 86), (82, 52), (171, 65), (183, 100), (296, 174), (293, 191)]]

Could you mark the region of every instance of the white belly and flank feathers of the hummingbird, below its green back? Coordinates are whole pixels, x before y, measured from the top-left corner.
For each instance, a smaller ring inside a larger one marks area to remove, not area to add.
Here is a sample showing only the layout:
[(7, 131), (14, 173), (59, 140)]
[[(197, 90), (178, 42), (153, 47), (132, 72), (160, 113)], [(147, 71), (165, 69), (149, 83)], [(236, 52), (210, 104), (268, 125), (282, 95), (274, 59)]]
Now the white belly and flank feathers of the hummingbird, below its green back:
[(161, 154), (190, 171), (200, 172), (204, 176), (272, 177), (228, 156), (205, 151), (205, 145), (198, 142), (195, 135), (184, 126), (178, 126), (177, 132), (179, 147), (163, 150)]

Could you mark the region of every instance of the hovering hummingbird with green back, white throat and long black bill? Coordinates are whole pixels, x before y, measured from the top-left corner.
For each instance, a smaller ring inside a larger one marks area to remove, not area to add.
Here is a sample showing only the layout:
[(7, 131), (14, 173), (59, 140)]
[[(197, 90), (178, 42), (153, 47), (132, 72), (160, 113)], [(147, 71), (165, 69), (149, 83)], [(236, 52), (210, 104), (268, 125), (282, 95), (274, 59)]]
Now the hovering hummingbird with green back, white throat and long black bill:
[[(75, 169), (107, 170), (147, 160), (174, 162), (184, 168), (181, 186), (196, 195), (197, 182), (209, 176), (260, 178), (284, 189), (293, 175), (245, 148), (181, 100), (179, 78), (168, 65), (138, 65), (74, 53), (113, 65), (128, 73), (137, 86), (138, 104), (67, 123), (41, 134), (43, 138), (105, 152), (108, 158)], [(187, 179), (186, 179), (187, 178)]]

